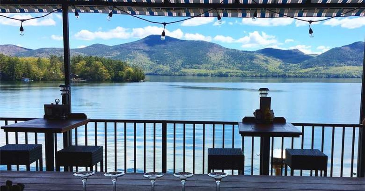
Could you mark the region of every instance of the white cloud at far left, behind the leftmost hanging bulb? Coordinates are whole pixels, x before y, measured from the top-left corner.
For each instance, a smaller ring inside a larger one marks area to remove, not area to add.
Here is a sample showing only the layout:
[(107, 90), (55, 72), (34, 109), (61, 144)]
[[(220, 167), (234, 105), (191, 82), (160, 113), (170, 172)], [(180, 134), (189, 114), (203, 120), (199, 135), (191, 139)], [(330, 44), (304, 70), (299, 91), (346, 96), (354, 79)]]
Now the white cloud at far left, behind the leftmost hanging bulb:
[[(15, 19), (30, 19), (34, 16), (28, 14), (28, 15), (13, 15), (13, 14), (1, 14), (4, 16), (12, 17)], [(11, 25), (11, 26), (19, 26), (20, 27), (20, 21), (14, 20), (14, 19), (7, 19), (4, 17), (0, 17), (0, 24), (3, 25)], [(23, 26), (54, 26), (56, 25), (56, 22), (51, 18), (44, 18), (44, 19), (31, 19), (23, 22)]]

